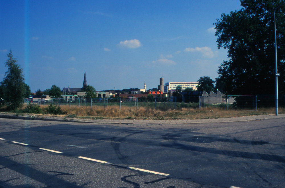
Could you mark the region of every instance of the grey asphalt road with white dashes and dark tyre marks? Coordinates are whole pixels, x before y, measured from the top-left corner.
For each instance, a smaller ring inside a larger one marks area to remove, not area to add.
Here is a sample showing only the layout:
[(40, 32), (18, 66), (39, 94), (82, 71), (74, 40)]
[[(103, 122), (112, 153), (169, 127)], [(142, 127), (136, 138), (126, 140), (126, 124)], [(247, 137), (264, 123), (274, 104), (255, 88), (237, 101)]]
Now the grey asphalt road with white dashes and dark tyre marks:
[(284, 133), (285, 119), (191, 125), (0, 119), (0, 187), (285, 187)]

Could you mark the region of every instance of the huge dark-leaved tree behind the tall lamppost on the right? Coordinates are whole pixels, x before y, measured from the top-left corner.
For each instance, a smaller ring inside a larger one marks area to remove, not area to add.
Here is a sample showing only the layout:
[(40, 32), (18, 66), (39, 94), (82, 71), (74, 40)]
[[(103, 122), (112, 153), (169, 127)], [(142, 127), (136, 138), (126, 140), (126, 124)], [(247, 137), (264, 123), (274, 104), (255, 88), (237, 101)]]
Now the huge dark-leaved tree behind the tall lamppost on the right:
[[(218, 48), (228, 51), (217, 78), (232, 95), (274, 95), (274, 9), (285, 0), (241, 0), (239, 11), (214, 23)], [(285, 94), (285, 5), (276, 10), (279, 95)]]

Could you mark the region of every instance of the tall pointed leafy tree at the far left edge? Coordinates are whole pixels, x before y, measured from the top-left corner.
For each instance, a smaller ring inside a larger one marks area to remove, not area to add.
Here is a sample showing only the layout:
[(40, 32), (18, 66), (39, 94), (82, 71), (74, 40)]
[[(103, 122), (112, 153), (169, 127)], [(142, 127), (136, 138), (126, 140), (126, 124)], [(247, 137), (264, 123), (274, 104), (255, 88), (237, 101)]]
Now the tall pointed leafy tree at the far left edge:
[(17, 64), (18, 60), (13, 58), (12, 51), (7, 54), (5, 67), (5, 77), (0, 83), (1, 87), (1, 103), (7, 103), (8, 110), (15, 110), (22, 105), (25, 97), (25, 83), (23, 69)]

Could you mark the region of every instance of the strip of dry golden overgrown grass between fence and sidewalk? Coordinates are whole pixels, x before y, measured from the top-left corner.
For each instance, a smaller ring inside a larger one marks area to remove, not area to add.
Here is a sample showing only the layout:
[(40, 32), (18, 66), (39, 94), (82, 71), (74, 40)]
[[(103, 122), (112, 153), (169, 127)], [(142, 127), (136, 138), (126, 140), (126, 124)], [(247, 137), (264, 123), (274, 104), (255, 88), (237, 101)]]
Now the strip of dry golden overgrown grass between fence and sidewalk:
[[(209, 106), (199, 108), (185, 108), (180, 107), (177, 109), (154, 109), (153, 107), (128, 107), (122, 106), (43, 106), (23, 105), (21, 109), (10, 113), (17, 114), (31, 114), (58, 117), (72, 117), (72, 118), (85, 118), (85, 119), (209, 119), (209, 118), (225, 118), (225, 117), (241, 117), (250, 115), (264, 115), (274, 114), (275, 108), (258, 108), (258, 111), (235, 111), (226, 110), (223, 106)], [(5, 111), (5, 107), (1, 108)], [(279, 113), (285, 113), (284, 108), (279, 108)]]

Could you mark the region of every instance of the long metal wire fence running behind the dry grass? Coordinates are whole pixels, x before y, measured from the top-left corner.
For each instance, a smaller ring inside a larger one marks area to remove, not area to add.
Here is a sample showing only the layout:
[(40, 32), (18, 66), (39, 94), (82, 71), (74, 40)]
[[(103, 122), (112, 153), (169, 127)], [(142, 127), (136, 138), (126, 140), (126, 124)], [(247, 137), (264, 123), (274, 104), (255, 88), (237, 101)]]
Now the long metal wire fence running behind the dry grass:
[[(65, 106), (104, 106), (107, 107), (152, 107), (155, 109), (180, 109), (219, 107), (226, 110), (258, 110), (258, 108), (275, 107), (275, 96), (194, 96), (194, 97), (138, 97), (138, 98), (73, 98), (73, 99), (25, 99), (24, 103), (38, 105)], [(285, 107), (285, 96), (278, 97), (278, 106)]]

